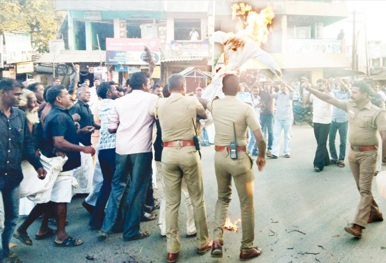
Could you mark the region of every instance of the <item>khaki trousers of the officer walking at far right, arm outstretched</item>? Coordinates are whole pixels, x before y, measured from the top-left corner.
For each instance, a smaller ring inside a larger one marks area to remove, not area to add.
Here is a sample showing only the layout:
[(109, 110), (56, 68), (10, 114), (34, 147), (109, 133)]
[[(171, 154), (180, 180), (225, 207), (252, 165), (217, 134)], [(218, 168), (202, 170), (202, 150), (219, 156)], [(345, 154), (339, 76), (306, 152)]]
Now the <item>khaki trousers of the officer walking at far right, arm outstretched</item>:
[(355, 214), (354, 224), (366, 228), (370, 214), (378, 214), (379, 208), (371, 194), (371, 183), (374, 177), (377, 150), (349, 152), (349, 164), (358, 187), (361, 201)]

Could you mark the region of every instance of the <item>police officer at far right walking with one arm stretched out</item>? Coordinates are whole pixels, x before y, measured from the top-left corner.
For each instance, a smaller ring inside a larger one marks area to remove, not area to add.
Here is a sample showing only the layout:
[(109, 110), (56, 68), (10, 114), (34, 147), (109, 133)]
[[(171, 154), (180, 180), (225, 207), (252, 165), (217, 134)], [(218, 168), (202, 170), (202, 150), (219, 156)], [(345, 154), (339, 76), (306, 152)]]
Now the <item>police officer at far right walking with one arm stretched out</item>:
[(335, 99), (321, 93), (305, 84), (308, 91), (317, 98), (347, 112), (349, 116), (349, 164), (356, 185), (361, 195), (361, 200), (351, 227), (345, 230), (355, 237), (362, 237), (362, 229), (368, 223), (383, 221), (382, 213), (371, 194), (371, 183), (376, 168), (378, 138), (377, 131), (382, 137), (382, 162), (385, 163), (386, 153), (386, 114), (385, 110), (373, 105), (368, 95), (371, 88), (366, 82), (352, 84), (351, 100)]

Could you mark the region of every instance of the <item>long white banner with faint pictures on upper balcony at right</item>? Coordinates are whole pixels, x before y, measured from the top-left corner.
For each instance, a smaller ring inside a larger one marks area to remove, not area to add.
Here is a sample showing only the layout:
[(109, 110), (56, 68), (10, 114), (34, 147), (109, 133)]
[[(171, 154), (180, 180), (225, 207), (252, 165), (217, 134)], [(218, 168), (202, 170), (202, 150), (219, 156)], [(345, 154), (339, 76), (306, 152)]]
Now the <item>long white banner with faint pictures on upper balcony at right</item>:
[(342, 53), (342, 40), (289, 38), (287, 53)]

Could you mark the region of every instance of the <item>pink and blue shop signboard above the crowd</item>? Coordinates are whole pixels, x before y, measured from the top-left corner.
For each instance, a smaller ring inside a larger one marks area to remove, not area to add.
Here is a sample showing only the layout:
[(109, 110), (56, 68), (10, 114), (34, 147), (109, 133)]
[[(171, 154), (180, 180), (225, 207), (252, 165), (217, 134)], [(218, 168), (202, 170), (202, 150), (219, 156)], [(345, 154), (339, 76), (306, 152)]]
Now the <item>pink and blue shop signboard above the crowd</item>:
[(160, 64), (159, 39), (150, 38), (106, 38), (106, 64), (147, 65), (144, 47), (152, 53), (156, 65)]

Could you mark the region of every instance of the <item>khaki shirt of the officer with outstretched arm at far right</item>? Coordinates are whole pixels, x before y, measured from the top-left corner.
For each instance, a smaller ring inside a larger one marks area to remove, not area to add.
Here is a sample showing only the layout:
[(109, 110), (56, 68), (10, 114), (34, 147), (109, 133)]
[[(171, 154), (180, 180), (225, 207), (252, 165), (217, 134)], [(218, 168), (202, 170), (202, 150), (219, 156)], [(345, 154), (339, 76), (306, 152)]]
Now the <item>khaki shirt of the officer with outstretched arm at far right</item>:
[(378, 146), (377, 130), (386, 131), (385, 110), (370, 101), (363, 109), (352, 101), (347, 107), (349, 116), (349, 142), (351, 146)]

